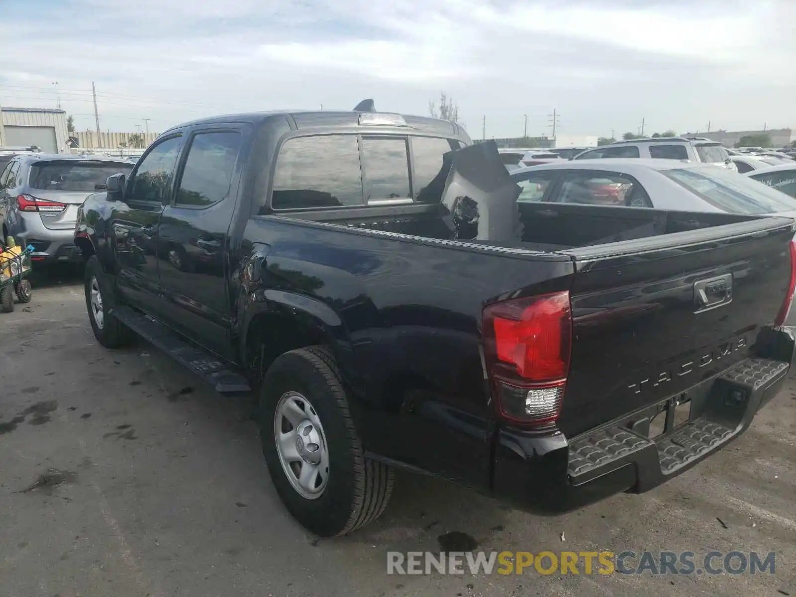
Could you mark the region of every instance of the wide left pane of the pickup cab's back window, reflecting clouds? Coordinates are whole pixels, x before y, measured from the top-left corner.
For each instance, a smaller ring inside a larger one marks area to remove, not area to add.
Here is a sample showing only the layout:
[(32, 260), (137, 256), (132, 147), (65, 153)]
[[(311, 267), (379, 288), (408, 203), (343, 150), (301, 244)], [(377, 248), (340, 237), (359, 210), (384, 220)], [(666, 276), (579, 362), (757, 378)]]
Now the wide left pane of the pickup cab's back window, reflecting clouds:
[(318, 135), (284, 142), (276, 160), (271, 207), (342, 205), (362, 205), (357, 137)]

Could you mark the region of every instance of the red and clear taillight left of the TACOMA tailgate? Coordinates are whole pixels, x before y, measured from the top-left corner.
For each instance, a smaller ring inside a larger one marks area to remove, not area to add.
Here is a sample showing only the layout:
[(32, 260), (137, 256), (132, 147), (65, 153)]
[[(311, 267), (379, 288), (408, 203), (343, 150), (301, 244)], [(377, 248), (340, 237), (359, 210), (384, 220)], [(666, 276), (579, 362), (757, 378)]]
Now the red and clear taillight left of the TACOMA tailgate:
[(572, 344), (569, 292), (486, 306), (483, 338), (497, 412), (533, 427), (554, 423)]

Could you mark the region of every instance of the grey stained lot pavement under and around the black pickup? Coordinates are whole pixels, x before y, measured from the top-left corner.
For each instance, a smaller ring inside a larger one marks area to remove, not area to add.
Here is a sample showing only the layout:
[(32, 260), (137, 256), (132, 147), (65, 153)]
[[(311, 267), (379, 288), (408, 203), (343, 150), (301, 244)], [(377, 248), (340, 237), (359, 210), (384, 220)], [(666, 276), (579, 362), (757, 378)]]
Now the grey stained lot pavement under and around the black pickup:
[[(243, 402), (143, 342), (103, 349), (80, 272), (34, 283), (28, 309), (0, 314), (2, 595), (796, 595), (794, 382), (741, 439), (647, 494), (538, 518), (399, 472), (379, 521), (318, 540), (279, 502)], [(486, 551), (774, 551), (776, 568), (386, 574), (388, 551), (439, 552), (452, 532)]]

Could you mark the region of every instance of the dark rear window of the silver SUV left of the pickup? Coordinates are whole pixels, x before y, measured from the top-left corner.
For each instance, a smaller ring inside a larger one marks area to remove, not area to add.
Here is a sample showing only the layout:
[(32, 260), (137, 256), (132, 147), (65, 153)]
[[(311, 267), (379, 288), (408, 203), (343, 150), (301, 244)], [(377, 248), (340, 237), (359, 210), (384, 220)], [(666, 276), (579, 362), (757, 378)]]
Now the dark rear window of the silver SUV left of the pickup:
[(127, 174), (134, 164), (111, 162), (38, 162), (30, 166), (33, 189), (93, 192), (105, 188), (109, 176)]

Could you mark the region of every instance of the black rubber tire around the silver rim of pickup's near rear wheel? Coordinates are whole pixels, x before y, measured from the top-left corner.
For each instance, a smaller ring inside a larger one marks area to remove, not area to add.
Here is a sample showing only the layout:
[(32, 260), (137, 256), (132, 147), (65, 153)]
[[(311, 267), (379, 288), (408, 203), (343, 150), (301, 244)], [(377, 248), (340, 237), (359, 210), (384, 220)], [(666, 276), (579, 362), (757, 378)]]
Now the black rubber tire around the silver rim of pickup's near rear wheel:
[[(323, 493), (315, 499), (294, 489), (279, 459), (275, 412), (287, 392), (306, 396), (323, 427), (329, 477)], [(392, 494), (393, 471), (382, 462), (365, 458), (340, 373), (326, 349), (312, 346), (277, 357), (263, 378), (258, 415), (263, 456), (276, 491), (306, 529), (321, 537), (345, 535), (384, 512)]]

